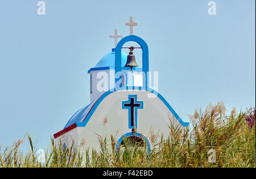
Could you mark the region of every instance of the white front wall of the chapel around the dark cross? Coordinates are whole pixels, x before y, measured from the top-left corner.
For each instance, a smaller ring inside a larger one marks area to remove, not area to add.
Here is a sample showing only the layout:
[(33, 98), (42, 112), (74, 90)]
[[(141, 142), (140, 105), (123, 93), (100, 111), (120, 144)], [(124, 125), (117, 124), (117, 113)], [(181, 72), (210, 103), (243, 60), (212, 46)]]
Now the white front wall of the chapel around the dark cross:
[(123, 134), (131, 132), (129, 129), (129, 111), (122, 109), (122, 101), (127, 101), (128, 95), (134, 94), (137, 95), (138, 101), (144, 102), (144, 109), (138, 109), (137, 132), (146, 136), (148, 140), (150, 140), (151, 128), (164, 136), (169, 135), (170, 117), (172, 122), (179, 124), (175, 118), (172, 118), (171, 111), (163, 101), (156, 96), (152, 98), (154, 95), (150, 91), (123, 90), (115, 91), (104, 98), (86, 126), (77, 127), (67, 132), (66, 136), (68, 135), (69, 139), (76, 139), (77, 144), (82, 149), (87, 147), (99, 149), (97, 134), (107, 136), (108, 139), (110, 139), (110, 135), (113, 135), (118, 140)]

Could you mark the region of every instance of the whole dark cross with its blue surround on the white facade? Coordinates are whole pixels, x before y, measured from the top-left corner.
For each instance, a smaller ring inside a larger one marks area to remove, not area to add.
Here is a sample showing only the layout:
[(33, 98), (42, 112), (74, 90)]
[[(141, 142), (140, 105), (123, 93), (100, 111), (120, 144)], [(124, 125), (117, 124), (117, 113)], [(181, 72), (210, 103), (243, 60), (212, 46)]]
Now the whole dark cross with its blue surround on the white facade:
[(137, 95), (128, 95), (128, 101), (122, 101), (122, 109), (129, 110), (129, 128), (137, 128), (137, 109), (143, 109), (143, 101), (137, 101)]

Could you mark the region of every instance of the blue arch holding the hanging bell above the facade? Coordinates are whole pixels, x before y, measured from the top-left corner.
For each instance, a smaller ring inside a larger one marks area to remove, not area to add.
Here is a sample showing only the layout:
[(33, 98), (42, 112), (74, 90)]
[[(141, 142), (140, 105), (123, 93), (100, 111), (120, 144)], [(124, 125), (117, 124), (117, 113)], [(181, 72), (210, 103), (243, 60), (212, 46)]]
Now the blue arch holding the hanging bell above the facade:
[[(142, 48), (142, 71), (143, 71), (143, 87), (147, 88), (148, 85), (148, 78), (147, 78), (147, 72), (149, 70), (149, 64), (148, 64), (148, 46), (146, 41), (144, 41), (142, 38), (139, 38), (136, 35), (129, 35), (125, 38), (122, 38), (119, 43), (117, 44), (117, 47), (115, 47), (115, 74), (122, 71), (122, 65), (121, 65), (121, 52), (123, 44), (125, 44), (128, 41), (135, 41), (138, 43)], [(120, 80), (120, 77), (115, 77), (115, 84), (117, 84), (117, 81)], [(118, 86), (115, 86), (115, 88), (118, 88)]]

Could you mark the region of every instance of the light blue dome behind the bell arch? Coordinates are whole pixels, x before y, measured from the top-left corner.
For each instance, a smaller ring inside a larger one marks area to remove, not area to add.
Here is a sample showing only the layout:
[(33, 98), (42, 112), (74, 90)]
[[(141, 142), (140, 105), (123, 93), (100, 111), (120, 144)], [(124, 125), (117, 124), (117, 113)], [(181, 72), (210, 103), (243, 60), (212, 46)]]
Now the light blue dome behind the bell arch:
[[(122, 66), (125, 66), (126, 60), (127, 60), (127, 54), (122, 53)], [(95, 65), (94, 68), (114, 67), (115, 66), (114, 64), (115, 64), (115, 52), (110, 52), (104, 57), (102, 57), (102, 59), (98, 61), (98, 63)]]

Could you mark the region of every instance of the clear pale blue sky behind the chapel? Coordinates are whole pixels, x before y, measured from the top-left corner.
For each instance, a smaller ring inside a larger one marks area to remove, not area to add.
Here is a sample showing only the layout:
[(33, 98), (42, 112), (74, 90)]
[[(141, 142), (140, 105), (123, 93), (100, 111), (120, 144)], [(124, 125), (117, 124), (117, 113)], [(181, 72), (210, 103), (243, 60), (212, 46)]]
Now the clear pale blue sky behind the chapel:
[(159, 93), (184, 120), (210, 102), (255, 106), (254, 0), (216, 0), (215, 16), (205, 0), (45, 0), (44, 16), (37, 2), (0, 1), (0, 144), (29, 132), (46, 148), (88, 105), (87, 71), (113, 48), (114, 28), (129, 35), (129, 16)]

